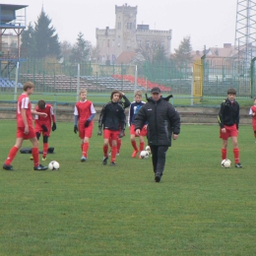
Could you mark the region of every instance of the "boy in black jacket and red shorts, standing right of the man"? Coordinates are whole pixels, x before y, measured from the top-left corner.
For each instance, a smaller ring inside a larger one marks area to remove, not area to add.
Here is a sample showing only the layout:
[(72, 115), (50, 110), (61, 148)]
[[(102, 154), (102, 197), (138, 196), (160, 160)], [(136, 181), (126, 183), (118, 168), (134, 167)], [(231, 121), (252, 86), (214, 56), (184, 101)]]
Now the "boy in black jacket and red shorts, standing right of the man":
[(238, 148), (238, 128), (239, 128), (239, 104), (235, 100), (236, 91), (232, 88), (227, 90), (227, 98), (221, 104), (218, 115), (220, 124), (220, 138), (223, 139), (222, 159), (226, 160), (227, 156), (227, 140), (230, 137), (233, 145), (233, 156), (236, 168), (241, 168), (240, 151)]

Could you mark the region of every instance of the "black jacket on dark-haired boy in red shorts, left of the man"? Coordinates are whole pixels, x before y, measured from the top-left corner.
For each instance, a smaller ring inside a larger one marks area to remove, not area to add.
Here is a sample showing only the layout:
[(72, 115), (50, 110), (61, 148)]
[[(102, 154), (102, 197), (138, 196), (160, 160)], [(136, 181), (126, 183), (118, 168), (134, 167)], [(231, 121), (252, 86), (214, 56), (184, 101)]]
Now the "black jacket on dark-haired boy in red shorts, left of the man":
[(118, 102), (109, 101), (101, 109), (98, 127), (104, 129), (118, 131), (125, 129), (125, 113), (124, 108)]

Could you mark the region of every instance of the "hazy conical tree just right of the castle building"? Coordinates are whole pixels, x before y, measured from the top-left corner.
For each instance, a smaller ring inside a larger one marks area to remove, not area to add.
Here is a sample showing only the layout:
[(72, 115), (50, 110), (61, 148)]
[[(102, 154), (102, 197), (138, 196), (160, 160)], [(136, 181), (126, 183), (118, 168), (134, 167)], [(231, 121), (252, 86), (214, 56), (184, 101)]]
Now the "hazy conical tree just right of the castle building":
[(179, 63), (180, 65), (184, 65), (185, 63), (191, 63), (192, 46), (190, 42), (190, 36), (184, 37), (183, 40), (180, 42), (178, 48), (174, 49), (174, 51), (174, 59), (177, 63)]

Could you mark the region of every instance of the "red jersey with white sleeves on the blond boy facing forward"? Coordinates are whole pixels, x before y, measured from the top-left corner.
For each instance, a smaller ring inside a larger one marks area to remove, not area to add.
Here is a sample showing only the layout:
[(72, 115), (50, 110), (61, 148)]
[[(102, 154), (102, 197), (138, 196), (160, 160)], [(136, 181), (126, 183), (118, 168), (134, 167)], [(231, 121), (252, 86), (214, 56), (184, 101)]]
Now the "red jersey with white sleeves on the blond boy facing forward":
[(88, 118), (96, 113), (94, 104), (90, 100), (78, 101), (75, 105), (74, 115), (78, 115), (79, 123), (85, 123)]

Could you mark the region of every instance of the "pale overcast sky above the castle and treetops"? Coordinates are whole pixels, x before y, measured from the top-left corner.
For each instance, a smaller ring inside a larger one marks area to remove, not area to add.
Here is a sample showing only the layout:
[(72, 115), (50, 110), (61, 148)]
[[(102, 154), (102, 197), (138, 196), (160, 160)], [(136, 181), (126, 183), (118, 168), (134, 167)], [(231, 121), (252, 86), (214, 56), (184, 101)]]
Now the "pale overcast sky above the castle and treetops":
[[(138, 6), (137, 24), (151, 30), (172, 30), (171, 51), (190, 35), (193, 50), (234, 44), (236, 0), (1, 0), (2, 4), (29, 5), (27, 23), (44, 12), (60, 41), (76, 41), (79, 32), (96, 44), (96, 28), (114, 29), (115, 5)], [(27, 24), (27, 25), (28, 25)]]

